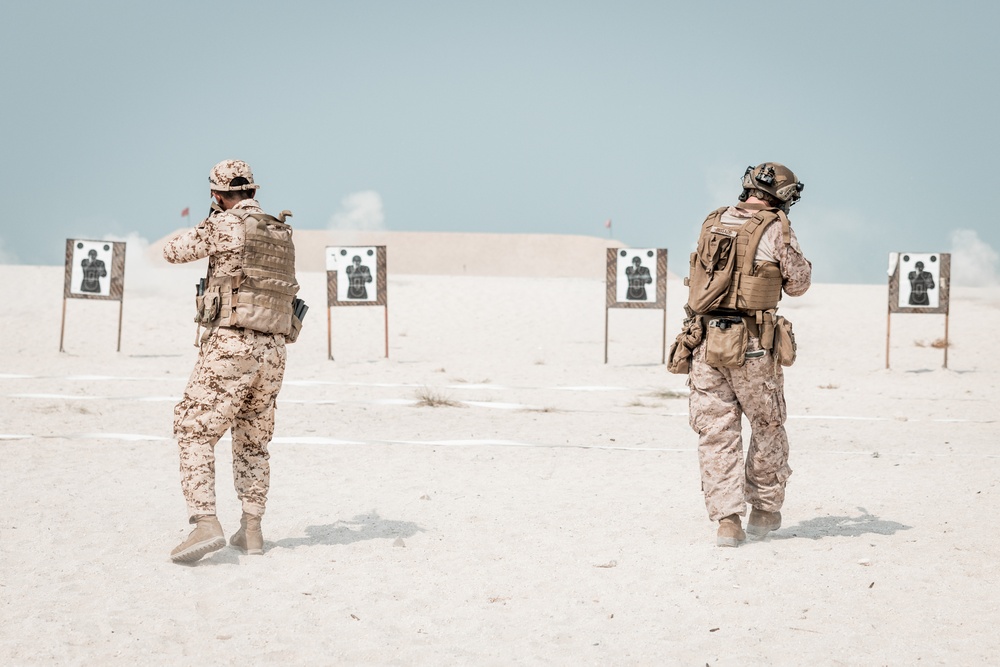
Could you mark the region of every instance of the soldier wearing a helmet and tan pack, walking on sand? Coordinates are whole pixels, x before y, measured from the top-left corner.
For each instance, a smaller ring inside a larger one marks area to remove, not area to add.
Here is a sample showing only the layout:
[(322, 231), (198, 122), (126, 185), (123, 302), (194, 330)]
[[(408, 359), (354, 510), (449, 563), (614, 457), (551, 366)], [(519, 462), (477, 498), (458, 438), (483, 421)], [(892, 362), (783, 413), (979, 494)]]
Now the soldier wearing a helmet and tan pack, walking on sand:
[[(747, 167), (739, 203), (713, 211), (691, 256), (685, 330), (691, 427), (698, 433), (702, 491), (717, 544), (781, 527), (788, 466), (782, 365), (794, 360), (791, 325), (775, 314), (782, 293), (809, 289), (812, 265), (788, 220), (802, 182), (784, 165)], [(788, 340), (790, 339), (790, 340)], [(785, 345), (779, 344), (781, 341)], [(675, 345), (675, 348), (679, 347)], [(789, 355), (788, 349), (792, 350)], [(674, 350), (671, 350), (674, 363)], [(742, 415), (751, 437), (744, 460)]]

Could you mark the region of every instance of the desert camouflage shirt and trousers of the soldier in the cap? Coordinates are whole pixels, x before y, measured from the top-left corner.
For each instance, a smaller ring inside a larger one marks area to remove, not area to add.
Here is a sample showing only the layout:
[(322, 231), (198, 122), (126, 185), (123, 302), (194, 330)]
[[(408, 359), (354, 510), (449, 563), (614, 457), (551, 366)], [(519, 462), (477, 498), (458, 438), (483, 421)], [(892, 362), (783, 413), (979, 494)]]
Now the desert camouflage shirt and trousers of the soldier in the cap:
[[(234, 206), (261, 213), (254, 199)], [(230, 212), (213, 212), (167, 242), (172, 263), (208, 257), (212, 276), (238, 275), (245, 229)], [(285, 372), (285, 339), (250, 329), (216, 327), (202, 339), (184, 398), (174, 408), (181, 487), (188, 515), (215, 514), (215, 443), (232, 429), (233, 480), (243, 512), (263, 516), (270, 483), (267, 444)]]

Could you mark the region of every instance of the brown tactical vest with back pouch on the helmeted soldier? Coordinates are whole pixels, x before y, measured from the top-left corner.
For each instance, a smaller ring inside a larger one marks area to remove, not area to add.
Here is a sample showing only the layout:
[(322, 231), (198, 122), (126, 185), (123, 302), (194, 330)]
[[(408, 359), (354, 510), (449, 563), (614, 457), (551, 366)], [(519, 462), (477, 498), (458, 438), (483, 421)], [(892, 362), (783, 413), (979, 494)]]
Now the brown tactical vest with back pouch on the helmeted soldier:
[(788, 217), (782, 211), (764, 209), (739, 227), (722, 224), (728, 209), (712, 211), (698, 237), (698, 250), (691, 253), (688, 307), (696, 313), (713, 310), (754, 314), (770, 310), (781, 299), (781, 269), (773, 262), (755, 263), (760, 239), (775, 220), (781, 221), (782, 240), (791, 243)]

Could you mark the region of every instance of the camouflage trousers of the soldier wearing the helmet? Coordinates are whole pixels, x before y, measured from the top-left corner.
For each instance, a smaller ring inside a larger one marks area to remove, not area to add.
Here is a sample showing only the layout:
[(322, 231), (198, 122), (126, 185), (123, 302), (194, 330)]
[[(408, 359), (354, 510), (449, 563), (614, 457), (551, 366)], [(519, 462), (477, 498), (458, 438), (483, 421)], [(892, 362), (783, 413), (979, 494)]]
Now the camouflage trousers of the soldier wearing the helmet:
[[(750, 337), (747, 351), (760, 349)], [(702, 342), (688, 374), (690, 424), (698, 433), (701, 490), (712, 521), (746, 513), (746, 504), (777, 512), (785, 501), (788, 436), (785, 434), (784, 375), (770, 353), (740, 368), (713, 368)], [(750, 446), (743, 460), (742, 417), (750, 421)]]

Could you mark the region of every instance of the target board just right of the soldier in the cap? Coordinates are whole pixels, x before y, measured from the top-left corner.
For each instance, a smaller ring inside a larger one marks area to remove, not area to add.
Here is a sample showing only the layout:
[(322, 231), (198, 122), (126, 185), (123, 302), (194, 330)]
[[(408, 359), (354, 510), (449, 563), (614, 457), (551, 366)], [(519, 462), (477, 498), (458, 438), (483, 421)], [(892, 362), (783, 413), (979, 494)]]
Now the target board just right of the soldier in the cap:
[(327, 307), (386, 305), (385, 246), (327, 246), (326, 279)]

